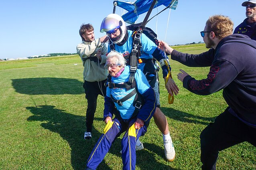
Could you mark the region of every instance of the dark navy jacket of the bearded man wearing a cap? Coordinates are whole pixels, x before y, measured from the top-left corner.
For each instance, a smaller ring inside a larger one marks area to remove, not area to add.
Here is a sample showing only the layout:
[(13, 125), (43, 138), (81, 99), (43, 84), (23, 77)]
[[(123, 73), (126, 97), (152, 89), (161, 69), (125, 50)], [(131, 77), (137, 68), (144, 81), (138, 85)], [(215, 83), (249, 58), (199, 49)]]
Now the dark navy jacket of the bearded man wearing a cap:
[[(243, 35), (247, 35), (247, 36), (251, 36), (252, 33), (256, 30), (256, 26), (254, 26), (253, 28), (251, 26), (249, 26), (247, 24), (247, 20), (248, 18), (246, 18), (241, 24), (239, 24), (235, 30), (234, 30), (234, 34), (243, 34)], [(250, 37), (252, 38), (252, 40), (256, 40), (256, 33), (254, 34), (254, 36)]]

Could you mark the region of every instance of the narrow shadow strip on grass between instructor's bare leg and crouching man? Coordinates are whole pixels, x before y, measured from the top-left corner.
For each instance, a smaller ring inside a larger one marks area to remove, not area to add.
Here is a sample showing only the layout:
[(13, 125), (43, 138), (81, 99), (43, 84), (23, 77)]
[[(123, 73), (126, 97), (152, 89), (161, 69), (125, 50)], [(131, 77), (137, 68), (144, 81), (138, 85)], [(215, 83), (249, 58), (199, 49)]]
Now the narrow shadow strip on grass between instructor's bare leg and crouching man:
[(165, 116), (172, 118), (174, 120), (179, 120), (181, 122), (187, 122), (187, 123), (209, 125), (209, 122), (214, 122), (216, 118), (216, 117), (207, 118), (202, 116), (195, 116), (193, 114), (181, 112), (179, 110), (175, 110), (172, 108), (161, 107), (161, 110), (165, 114)]

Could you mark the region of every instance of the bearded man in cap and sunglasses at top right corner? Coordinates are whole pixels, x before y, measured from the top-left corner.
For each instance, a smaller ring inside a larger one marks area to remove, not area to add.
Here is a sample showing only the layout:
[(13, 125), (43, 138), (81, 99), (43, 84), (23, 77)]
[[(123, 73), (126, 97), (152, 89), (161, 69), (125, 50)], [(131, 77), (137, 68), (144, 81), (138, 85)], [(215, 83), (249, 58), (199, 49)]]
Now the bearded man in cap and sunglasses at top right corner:
[(256, 40), (256, 0), (242, 3), (246, 7), (246, 19), (236, 27), (234, 34), (244, 34)]

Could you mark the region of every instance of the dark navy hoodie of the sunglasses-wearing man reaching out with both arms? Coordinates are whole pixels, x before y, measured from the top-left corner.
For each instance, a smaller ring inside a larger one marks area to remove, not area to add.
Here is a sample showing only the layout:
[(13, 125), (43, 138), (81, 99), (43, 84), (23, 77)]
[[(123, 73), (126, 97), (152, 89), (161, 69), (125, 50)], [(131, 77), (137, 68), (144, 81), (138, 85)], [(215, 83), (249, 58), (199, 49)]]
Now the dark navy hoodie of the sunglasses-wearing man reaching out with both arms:
[(256, 41), (246, 35), (232, 34), (223, 38), (215, 50), (191, 55), (173, 50), (171, 58), (186, 66), (210, 66), (206, 79), (186, 76), (183, 87), (208, 95), (223, 89), (230, 112), (256, 128)]

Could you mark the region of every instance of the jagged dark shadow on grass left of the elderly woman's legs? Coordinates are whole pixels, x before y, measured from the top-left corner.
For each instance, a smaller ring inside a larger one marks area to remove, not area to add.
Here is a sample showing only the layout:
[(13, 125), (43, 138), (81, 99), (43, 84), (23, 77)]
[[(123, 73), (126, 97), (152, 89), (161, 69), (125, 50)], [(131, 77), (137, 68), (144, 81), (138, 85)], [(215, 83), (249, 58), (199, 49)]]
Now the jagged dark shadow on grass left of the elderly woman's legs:
[[(95, 138), (84, 140), (85, 117), (69, 114), (64, 110), (55, 108), (55, 106), (36, 106), (26, 107), (33, 113), (28, 121), (40, 121), (41, 126), (52, 132), (60, 134), (66, 140), (71, 148), (71, 164), (74, 170), (85, 169), (85, 164), (94, 144), (97, 142), (100, 132), (93, 129)], [(96, 137), (98, 136), (98, 137)], [(101, 164), (102, 169), (110, 169), (108, 165)]]

